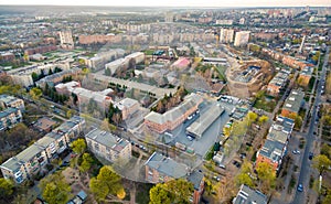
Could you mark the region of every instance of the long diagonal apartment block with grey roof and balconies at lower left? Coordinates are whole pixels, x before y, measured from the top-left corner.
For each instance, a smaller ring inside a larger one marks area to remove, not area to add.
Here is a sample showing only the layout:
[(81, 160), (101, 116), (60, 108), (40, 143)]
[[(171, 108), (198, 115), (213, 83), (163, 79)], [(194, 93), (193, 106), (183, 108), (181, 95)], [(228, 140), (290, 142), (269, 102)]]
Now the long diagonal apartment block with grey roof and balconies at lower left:
[(72, 117), (58, 128), (47, 133), (19, 154), (0, 165), (4, 179), (22, 183), (32, 179), (38, 172), (60, 153), (83, 131), (85, 120), (78, 116)]

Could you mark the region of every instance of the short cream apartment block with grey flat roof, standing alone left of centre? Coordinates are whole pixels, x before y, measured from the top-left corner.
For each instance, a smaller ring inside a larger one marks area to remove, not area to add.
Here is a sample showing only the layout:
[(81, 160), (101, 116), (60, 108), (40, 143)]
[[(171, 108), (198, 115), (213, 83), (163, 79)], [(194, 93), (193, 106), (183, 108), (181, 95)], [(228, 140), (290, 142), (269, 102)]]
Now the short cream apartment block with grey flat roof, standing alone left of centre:
[(127, 163), (131, 158), (131, 143), (108, 131), (93, 129), (86, 136), (88, 149), (109, 162)]

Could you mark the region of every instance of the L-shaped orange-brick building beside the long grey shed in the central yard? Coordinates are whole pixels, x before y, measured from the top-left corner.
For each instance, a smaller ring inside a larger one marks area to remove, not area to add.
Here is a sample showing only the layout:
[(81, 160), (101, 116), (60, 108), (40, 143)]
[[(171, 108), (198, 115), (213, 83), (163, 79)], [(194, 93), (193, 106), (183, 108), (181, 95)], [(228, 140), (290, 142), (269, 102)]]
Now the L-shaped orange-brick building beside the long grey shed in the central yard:
[(151, 111), (145, 117), (145, 125), (152, 131), (162, 133), (167, 130), (173, 130), (180, 126), (189, 116), (197, 110), (197, 106), (203, 98), (197, 94), (191, 94), (184, 98), (184, 101), (168, 110), (164, 114)]

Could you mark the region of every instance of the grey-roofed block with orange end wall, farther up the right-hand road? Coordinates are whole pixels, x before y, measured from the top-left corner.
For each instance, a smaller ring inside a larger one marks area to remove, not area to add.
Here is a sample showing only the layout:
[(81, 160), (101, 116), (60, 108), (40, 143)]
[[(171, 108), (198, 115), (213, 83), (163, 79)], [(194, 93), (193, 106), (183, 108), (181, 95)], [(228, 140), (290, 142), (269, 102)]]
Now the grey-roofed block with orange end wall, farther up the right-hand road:
[(281, 116), (284, 117), (296, 117), (299, 114), (299, 110), (302, 106), (305, 97), (305, 92), (299, 89), (293, 89), (290, 95), (287, 97), (282, 105)]

